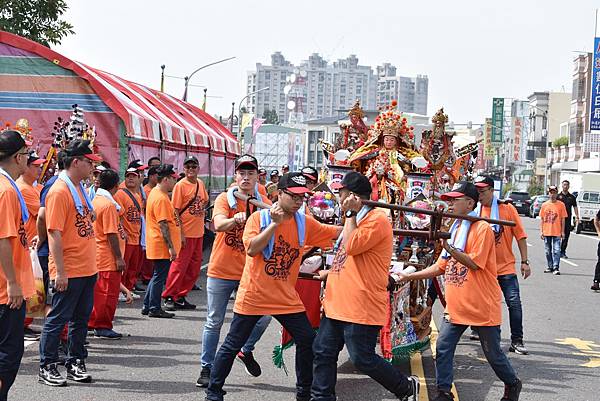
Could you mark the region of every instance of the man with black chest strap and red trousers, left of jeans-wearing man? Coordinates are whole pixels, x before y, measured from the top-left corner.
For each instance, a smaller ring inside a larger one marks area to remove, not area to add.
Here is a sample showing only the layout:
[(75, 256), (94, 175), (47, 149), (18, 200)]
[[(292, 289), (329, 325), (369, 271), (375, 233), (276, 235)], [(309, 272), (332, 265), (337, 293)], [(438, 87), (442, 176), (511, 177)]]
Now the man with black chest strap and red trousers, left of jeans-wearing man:
[(144, 250), (141, 244), (143, 201), (139, 193), (141, 174), (136, 168), (125, 171), (124, 186), (121, 186), (114, 198), (121, 206), (121, 221), (127, 234), (125, 244), (125, 272), (121, 283), (128, 290), (133, 290), (137, 276), (144, 262)]

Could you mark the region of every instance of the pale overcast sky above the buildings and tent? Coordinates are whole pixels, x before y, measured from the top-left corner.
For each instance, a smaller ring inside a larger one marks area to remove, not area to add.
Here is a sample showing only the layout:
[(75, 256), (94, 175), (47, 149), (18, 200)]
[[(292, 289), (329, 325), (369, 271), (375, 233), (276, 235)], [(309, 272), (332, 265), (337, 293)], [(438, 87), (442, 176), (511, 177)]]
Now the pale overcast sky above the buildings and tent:
[[(334, 61), (356, 54), (375, 68), (429, 76), (428, 113), (482, 122), (492, 97), (571, 91), (574, 51), (592, 51), (593, 0), (499, 1), (156, 1), (67, 0), (76, 34), (56, 48), (65, 56), (153, 88), (166, 74), (200, 71), (207, 111), (228, 115), (245, 96), (246, 73), (281, 51), (292, 63), (318, 52)], [(417, 4), (418, 3), (418, 4)], [(180, 97), (183, 80), (167, 78)], [(202, 88), (190, 88), (199, 105)]]

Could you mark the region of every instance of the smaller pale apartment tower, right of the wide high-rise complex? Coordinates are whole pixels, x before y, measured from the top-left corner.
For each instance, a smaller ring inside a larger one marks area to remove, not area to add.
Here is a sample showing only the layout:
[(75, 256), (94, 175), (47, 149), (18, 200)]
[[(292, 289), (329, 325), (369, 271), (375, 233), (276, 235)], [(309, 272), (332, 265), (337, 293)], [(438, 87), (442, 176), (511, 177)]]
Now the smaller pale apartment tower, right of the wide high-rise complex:
[(398, 101), (398, 110), (405, 113), (427, 115), (429, 78), (426, 75), (402, 77), (396, 75), (396, 67), (384, 63), (377, 67), (377, 106)]

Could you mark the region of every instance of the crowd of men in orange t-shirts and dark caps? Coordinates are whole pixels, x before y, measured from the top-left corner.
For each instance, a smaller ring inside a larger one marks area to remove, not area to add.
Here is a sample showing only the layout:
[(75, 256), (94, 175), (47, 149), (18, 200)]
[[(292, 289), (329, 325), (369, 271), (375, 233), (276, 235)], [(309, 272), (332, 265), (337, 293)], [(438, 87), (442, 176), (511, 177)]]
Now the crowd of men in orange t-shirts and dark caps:
[[(47, 291), (39, 381), (49, 386), (90, 382), (86, 336), (121, 338), (112, 325), (120, 297), (132, 302), (139, 297), (136, 292), (145, 290), (141, 313), (149, 318), (168, 319), (173, 311), (196, 308), (186, 297), (200, 274), (209, 206), (194, 156), (184, 160), (181, 175), (156, 157), (147, 164), (134, 160), (121, 180), (93, 153), (89, 141), (73, 140), (59, 152), (57, 172), (41, 188), (36, 179), (44, 160), (28, 146), (16, 131), (0, 133), (0, 213), (6, 222), (0, 226), (0, 401), (16, 377), (31, 323), (25, 319), (25, 302), (33, 294), (30, 247), (37, 250)], [(216, 238), (207, 270), (207, 317), (196, 383), (206, 388), (206, 399), (224, 399), (236, 358), (249, 374), (261, 375), (253, 350), (275, 318), (296, 344), (296, 400), (336, 399), (337, 360), (344, 345), (360, 371), (399, 399), (418, 400), (419, 378), (403, 375), (375, 351), (379, 329), (387, 321), (393, 230), (383, 210), (363, 204), (371, 197), (369, 180), (350, 172), (333, 188), (344, 214), (343, 225), (334, 226), (318, 222), (305, 207), (319, 180), (314, 168), (290, 172), (283, 166), (283, 174), (273, 170), (268, 182), (267, 172), (251, 155), (240, 156), (234, 168), (233, 182), (217, 196), (212, 212)], [(513, 240), (522, 277), (531, 270), (520, 218), (512, 205), (497, 199), (493, 187), (493, 180), (482, 176), (475, 183), (457, 183), (443, 199), (451, 212), (510, 220), (515, 227), (457, 220), (434, 265), (399, 275), (399, 283), (445, 276), (436, 401), (453, 399), (454, 351), (469, 327), (505, 384), (502, 400), (516, 401), (521, 392), (522, 383), (500, 348), (503, 297), (510, 316), (510, 351), (527, 354)], [(555, 190), (551, 187), (550, 193)], [(248, 214), (237, 192), (270, 208)], [(541, 213), (563, 216), (551, 196)], [(551, 227), (546, 220), (542, 218), (542, 235), (552, 250), (547, 251), (548, 269), (559, 274), (554, 258), (560, 256), (560, 243), (554, 237), (564, 234), (564, 226), (560, 218)], [(334, 253), (330, 268), (317, 276), (326, 283), (318, 334), (295, 289), (302, 254), (312, 247)], [(232, 297), (233, 319), (219, 347)]]

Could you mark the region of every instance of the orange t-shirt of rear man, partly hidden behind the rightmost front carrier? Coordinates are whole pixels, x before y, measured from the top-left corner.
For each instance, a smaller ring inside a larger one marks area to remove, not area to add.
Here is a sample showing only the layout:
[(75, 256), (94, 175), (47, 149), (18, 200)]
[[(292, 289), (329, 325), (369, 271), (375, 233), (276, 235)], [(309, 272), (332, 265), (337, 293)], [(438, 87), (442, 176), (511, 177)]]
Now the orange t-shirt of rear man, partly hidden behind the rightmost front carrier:
[[(481, 217), (490, 217), (492, 208), (489, 206), (481, 207)], [(498, 275), (516, 274), (515, 270), (515, 255), (512, 251), (513, 238), (519, 241), (527, 238), (523, 223), (519, 217), (517, 209), (511, 204), (498, 205), (498, 218), (500, 220), (514, 221), (516, 226), (500, 226), (498, 233), (494, 232), (496, 241), (496, 270)]]

